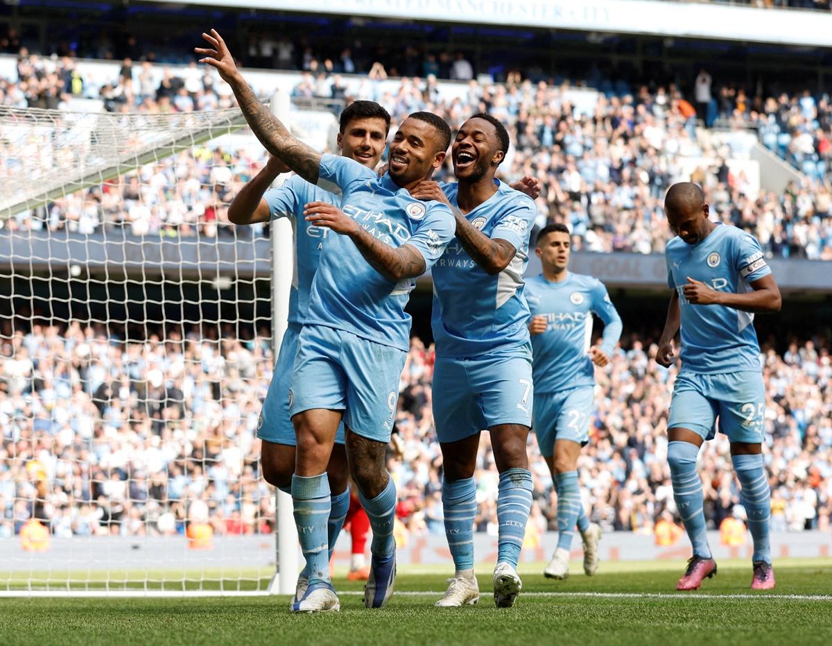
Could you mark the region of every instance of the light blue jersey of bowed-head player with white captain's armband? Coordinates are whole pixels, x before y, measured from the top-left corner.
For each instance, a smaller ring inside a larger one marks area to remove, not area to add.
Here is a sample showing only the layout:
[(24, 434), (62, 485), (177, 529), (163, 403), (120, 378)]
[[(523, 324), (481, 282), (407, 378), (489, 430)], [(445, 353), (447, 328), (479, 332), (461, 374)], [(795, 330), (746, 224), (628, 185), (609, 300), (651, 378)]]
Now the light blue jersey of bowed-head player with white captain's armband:
[(760, 370), (754, 315), (720, 305), (691, 305), (687, 278), (717, 291), (751, 291), (750, 283), (771, 273), (754, 236), (717, 223), (696, 245), (675, 237), (665, 248), (667, 286), (679, 292), (682, 370), (700, 374)]

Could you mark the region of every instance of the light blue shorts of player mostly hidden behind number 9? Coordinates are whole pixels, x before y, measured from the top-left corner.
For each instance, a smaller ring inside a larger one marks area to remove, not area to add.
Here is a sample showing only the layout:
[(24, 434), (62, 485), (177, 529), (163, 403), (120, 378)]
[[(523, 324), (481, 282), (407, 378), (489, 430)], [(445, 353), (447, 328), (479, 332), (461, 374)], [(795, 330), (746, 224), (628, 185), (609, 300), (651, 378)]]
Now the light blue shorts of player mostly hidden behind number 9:
[[(257, 437), (273, 444), (295, 446), (295, 427), (289, 415), (289, 388), (292, 366), (298, 351), (298, 329), (290, 326), (280, 343), (275, 372), (271, 376), (269, 390), (265, 394), (260, 419), (257, 420)], [(344, 424), (338, 425), (335, 444), (344, 444)]]

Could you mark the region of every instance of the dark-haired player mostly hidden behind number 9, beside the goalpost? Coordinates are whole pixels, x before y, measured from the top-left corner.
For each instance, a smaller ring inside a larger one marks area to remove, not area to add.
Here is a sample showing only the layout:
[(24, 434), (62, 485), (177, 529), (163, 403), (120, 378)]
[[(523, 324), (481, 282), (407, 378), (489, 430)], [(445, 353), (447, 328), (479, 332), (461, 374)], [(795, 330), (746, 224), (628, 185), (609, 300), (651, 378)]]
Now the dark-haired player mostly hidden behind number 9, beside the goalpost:
[[(390, 128), (390, 115), (384, 107), (371, 101), (354, 102), (341, 112), (339, 126), (338, 147), (341, 154), (374, 169), (384, 153)], [(280, 159), (270, 156), (265, 167), (237, 193), (228, 208), (228, 217), (235, 225), (288, 217), (295, 230), (295, 280), (292, 281), (289, 297), (289, 326), (280, 344), (275, 372), (257, 426), (257, 436), (262, 442), (260, 464), (263, 477), (269, 484), (291, 494), (292, 475), (295, 473), (295, 427), (289, 415), (290, 375), (298, 350), (300, 326), (306, 321), (309, 309), (312, 279), (318, 270), (321, 246), (329, 231), (306, 222), (304, 209), (311, 201), (339, 204), (341, 196), (324, 191), (300, 176), (290, 177), (281, 186), (267, 190), (280, 173), (288, 170)], [(331, 559), (335, 541), (350, 509), (343, 425), (339, 425), (335, 435), (327, 475), (332, 504), (327, 525)], [(360, 506), (352, 513), (364, 515)], [(359, 524), (361, 520), (358, 519)], [(309, 572), (304, 567), (295, 587), (295, 600), (303, 597), (308, 584)]]

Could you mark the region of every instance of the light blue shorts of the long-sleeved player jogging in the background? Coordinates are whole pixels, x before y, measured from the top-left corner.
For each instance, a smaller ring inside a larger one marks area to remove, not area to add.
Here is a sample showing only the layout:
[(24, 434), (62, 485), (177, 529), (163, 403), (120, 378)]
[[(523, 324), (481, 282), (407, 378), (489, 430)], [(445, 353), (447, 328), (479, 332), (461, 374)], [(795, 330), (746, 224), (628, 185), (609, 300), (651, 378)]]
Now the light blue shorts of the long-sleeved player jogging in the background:
[(594, 391), (591, 385), (581, 385), (557, 393), (534, 395), (534, 432), (540, 455), (544, 458), (554, 455), (555, 440), (587, 444)]

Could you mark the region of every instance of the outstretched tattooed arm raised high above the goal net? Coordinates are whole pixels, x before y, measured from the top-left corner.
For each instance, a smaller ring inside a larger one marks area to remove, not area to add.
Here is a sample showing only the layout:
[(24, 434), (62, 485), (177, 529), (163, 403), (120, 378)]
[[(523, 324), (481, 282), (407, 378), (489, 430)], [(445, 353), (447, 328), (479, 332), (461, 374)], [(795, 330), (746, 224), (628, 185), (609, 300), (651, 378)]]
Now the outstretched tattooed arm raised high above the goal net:
[(320, 153), (292, 137), (280, 120), (257, 98), (237, 69), (234, 57), (219, 32), (211, 29), (210, 34), (203, 33), (202, 37), (212, 48), (195, 47), (194, 51), (204, 55), (200, 62), (215, 67), (222, 80), (231, 86), (251, 132), (255, 133), (255, 137), (272, 155), (280, 157), (286, 166), (306, 181), (317, 184)]

